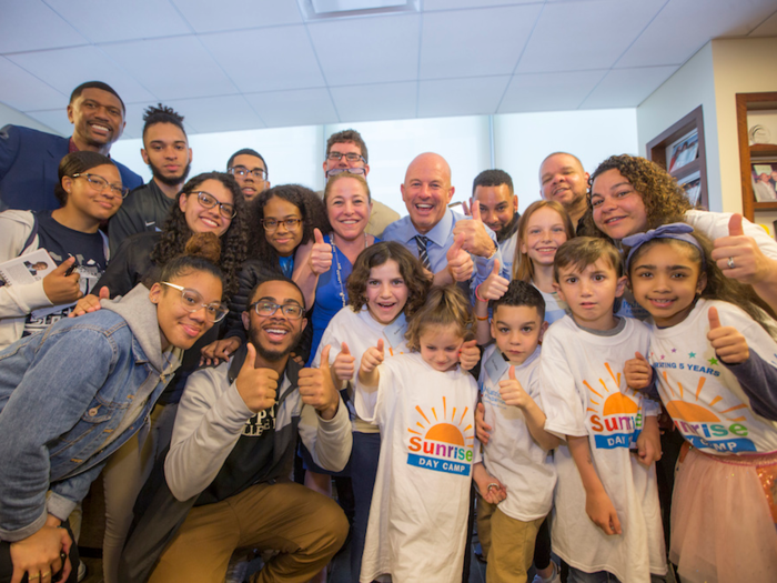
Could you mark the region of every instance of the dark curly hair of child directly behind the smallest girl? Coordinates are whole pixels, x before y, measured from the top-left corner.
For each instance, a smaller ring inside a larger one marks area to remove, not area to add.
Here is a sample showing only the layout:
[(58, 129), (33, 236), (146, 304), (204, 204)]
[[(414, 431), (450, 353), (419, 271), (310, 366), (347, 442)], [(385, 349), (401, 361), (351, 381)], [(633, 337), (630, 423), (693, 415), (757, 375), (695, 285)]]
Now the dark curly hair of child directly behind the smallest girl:
[(367, 303), (370, 270), (383, 265), (389, 260), (396, 261), (400, 275), (407, 285), (407, 301), (403, 310), (405, 316), (410, 318), (424, 304), (426, 294), (432, 289), (432, 280), (421, 261), (396, 241), (381, 241), (359, 253), (353, 271), (349, 275), (349, 305), (354, 312), (361, 311)]

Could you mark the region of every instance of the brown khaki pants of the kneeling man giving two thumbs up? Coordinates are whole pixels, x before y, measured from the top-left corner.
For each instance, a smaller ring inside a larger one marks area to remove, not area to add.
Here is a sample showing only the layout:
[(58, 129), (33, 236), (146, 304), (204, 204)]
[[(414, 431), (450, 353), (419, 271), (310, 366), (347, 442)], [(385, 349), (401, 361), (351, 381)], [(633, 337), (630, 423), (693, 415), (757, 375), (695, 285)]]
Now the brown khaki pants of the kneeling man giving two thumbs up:
[(337, 504), (300, 484), (260, 484), (191, 510), (150, 583), (224, 581), (235, 549), (276, 550), (255, 580), (305, 582), (340, 550), (349, 523)]

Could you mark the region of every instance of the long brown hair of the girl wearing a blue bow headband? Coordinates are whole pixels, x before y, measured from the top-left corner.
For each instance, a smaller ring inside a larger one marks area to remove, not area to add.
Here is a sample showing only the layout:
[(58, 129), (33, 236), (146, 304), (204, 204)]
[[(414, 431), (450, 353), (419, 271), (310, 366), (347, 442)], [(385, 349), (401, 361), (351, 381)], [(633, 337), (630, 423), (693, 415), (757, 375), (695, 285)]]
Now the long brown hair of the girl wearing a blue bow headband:
[[(670, 223), (683, 222), (682, 217), (668, 219), (668, 222)], [(636, 260), (639, 259), (639, 257), (642, 257), (648, 249), (655, 247), (656, 244), (682, 245), (683, 249), (688, 249), (690, 251), (690, 260), (698, 263), (699, 273), (706, 273), (707, 275), (707, 283), (699, 294), (700, 298), (704, 298), (705, 300), (720, 300), (741, 308), (747, 315), (758, 322), (760, 326), (771, 335), (771, 338), (777, 339), (777, 328), (774, 321), (774, 319), (777, 316), (771, 306), (758, 296), (756, 291), (753, 289), (753, 285), (727, 278), (723, 273), (720, 268), (718, 268), (717, 262), (713, 259), (713, 242), (705, 234), (700, 233), (696, 229), (694, 229), (692, 234), (704, 250), (704, 257), (702, 257), (702, 253), (696, 247), (686, 241), (679, 241), (677, 239), (654, 239), (637, 249), (634, 257), (629, 259), (629, 272), (627, 273), (629, 281), (632, 279), (632, 271), (634, 270)], [(629, 250), (629, 248), (624, 248), (624, 253), (627, 257)]]

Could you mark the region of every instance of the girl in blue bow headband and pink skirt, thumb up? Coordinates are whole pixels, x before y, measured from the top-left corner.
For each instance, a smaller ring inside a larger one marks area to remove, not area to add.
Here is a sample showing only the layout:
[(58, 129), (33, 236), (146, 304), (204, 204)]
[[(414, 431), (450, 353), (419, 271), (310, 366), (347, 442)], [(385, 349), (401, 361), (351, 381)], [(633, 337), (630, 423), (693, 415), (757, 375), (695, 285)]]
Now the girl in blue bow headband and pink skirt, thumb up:
[[(686, 582), (770, 581), (777, 572), (777, 342), (769, 306), (726, 278), (736, 258), (685, 223), (627, 237), (635, 300), (650, 313), (650, 353), (624, 372), (655, 373), (685, 438), (669, 559)], [(769, 315), (767, 315), (767, 313)], [(650, 366), (652, 365), (652, 366)], [(688, 451), (689, 450), (689, 451)]]

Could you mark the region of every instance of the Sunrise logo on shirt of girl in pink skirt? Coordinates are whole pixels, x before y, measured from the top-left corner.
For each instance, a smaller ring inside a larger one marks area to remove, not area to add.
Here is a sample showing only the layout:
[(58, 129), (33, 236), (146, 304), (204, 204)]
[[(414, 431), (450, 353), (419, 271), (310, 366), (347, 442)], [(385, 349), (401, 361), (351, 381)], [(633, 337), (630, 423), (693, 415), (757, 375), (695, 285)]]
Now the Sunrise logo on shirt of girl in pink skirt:
[[(747, 428), (741, 424), (743, 421), (747, 421), (747, 418), (741, 415), (743, 409), (747, 410), (745, 403), (713, 411), (723, 401), (723, 396), (716, 395), (707, 406), (698, 403), (705, 376), (699, 376), (695, 391), (688, 390), (679, 382), (676, 389), (672, 386), (666, 371), (663, 371), (663, 376), (662, 388), (668, 388), (665, 389), (667, 399), (664, 400), (666, 411), (672, 415), (675, 426), (694, 448), (729, 453), (757, 451), (755, 443), (747, 438)], [(693, 399), (694, 402), (686, 399)]]

